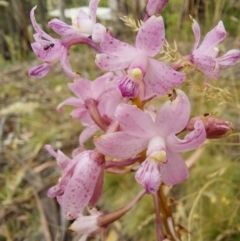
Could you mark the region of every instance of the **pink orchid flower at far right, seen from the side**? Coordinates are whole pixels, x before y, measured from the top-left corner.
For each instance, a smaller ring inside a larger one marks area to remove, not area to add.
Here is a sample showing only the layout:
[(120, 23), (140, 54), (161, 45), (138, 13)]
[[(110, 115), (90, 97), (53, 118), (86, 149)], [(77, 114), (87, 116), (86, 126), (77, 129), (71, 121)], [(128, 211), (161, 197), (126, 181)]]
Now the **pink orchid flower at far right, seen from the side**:
[(226, 30), (222, 21), (219, 21), (217, 26), (207, 33), (201, 45), (198, 47), (201, 31), (198, 23), (194, 19), (192, 19), (192, 21), (195, 43), (191, 54), (187, 56), (187, 58), (206, 76), (217, 79), (220, 69), (228, 68), (236, 64), (240, 58), (240, 50), (232, 49), (225, 55), (217, 57), (218, 49), (216, 46), (226, 37)]

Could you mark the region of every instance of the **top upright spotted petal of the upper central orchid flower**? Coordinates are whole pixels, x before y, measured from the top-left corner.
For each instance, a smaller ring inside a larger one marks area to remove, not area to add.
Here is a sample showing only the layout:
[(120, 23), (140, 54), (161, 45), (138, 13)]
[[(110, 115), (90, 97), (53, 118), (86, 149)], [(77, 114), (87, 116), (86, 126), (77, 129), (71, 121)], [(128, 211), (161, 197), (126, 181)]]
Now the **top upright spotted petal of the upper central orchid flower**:
[(164, 22), (161, 16), (150, 17), (140, 28), (136, 48), (153, 57), (160, 52), (165, 40)]

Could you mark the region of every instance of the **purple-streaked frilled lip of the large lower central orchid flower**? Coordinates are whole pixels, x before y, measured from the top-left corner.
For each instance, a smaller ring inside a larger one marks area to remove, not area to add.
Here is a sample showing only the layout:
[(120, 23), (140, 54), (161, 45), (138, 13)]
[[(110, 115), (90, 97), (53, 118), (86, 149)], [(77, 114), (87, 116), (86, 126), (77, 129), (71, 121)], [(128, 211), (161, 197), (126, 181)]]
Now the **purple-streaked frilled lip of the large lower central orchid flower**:
[(153, 194), (157, 192), (161, 184), (161, 175), (158, 163), (150, 159), (146, 159), (135, 174), (135, 178), (140, 183), (146, 193)]

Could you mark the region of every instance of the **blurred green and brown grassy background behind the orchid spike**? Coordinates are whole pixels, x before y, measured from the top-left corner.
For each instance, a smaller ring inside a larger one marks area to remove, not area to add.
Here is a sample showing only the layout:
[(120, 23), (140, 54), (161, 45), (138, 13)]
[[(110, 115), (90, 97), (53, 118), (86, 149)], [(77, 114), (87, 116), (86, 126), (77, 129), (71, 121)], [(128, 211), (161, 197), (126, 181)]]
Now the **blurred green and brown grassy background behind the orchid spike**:
[[(60, 4), (61, 2), (61, 4)], [(110, 3), (110, 4), (109, 4)], [(100, 1), (112, 7), (114, 1)], [(133, 43), (136, 33), (118, 18), (127, 15), (135, 20), (144, 15), (146, 1), (119, 1), (114, 20), (100, 20), (120, 40)], [(47, 189), (61, 175), (55, 160), (45, 151), (51, 144), (71, 156), (78, 146), (82, 129), (71, 119), (71, 108), (63, 114), (56, 106), (72, 94), (71, 81), (60, 65), (43, 79), (29, 77), (28, 70), (40, 63), (31, 51), (33, 42), (30, 9), (38, 5), (36, 18), (49, 34), (48, 11), (86, 6), (87, 1), (0, 1), (0, 241), (68, 241), (79, 236), (67, 230), (69, 223), (61, 215), (54, 199), (46, 197)], [(194, 43), (189, 14), (200, 24), (203, 36), (219, 20), (224, 22), (227, 38), (220, 43), (220, 55), (240, 46), (239, 0), (170, 0), (162, 15), (170, 45), (176, 40), (178, 50), (187, 55)], [(66, 20), (70, 23), (70, 19)], [(71, 49), (70, 60), (75, 71), (95, 79), (102, 72), (94, 63), (95, 52), (86, 46)], [(190, 170), (190, 178), (173, 187), (168, 198), (182, 240), (240, 240), (240, 69), (239, 64), (221, 72), (219, 80), (204, 82), (200, 74), (188, 71), (181, 86), (191, 99), (192, 116), (215, 114), (229, 120), (234, 132), (221, 140), (210, 140)], [(162, 98), (154, 104), (162, 103)], [(92, 146), (87, 143), (88, 148)], [(191, 153), (184, 153), (187, 159)], [(104, 193), (99, 208), (115, 210), (140, 191), (134, 173), (105, 175)], [(152, 197), (144, 197), (120, 221), (109, 227), (108, 241), (153, 241), (155, 220)], [(190, 235), (189, 235), (190, 234)], [(89, 240), (99, 240), (89, 238)]]

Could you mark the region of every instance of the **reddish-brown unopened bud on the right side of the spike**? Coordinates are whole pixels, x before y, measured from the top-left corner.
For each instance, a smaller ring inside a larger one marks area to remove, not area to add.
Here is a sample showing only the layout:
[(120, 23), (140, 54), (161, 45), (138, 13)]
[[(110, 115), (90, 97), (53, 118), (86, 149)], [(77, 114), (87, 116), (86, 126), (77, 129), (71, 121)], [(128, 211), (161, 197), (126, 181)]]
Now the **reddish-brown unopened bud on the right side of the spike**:
[(210, 114), (195, 116), (189, 120), (186, 130), (194, 130), (194, 124), (197, 120), (202, 120), (208, 139), (218, 139), (229, 136), (233, 131), (232, 123), (229, 121), (218, 119)]

